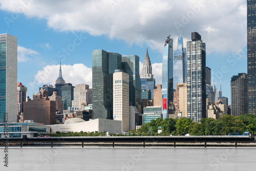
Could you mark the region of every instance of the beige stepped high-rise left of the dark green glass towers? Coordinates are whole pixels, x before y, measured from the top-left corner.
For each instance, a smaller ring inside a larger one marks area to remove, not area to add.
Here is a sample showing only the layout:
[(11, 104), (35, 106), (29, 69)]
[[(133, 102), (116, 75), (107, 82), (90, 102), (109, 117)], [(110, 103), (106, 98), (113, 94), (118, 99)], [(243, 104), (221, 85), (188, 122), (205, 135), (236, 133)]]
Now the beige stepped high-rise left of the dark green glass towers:
[(92, 104), (92, 93), (89, 90), (89, 85), (78, 84), (74, 88), (74, 100), (72, 100), (72, 107), (82, 109), (84, 103)]

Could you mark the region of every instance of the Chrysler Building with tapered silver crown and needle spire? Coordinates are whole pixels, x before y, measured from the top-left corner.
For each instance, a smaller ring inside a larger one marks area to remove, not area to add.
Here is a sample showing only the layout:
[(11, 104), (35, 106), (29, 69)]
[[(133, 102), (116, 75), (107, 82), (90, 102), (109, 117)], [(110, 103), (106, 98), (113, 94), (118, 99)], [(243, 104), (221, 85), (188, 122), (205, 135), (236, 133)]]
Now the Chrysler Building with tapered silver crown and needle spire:
[(155, 78), (152, 74), (152, 66), (150, 61), (150, 56), (148, 56), (148, 51), (146, 47), (146, 55), (143, 61), (142, 74), (140, 75), (141, 80), (141, 90), (151, 90), (151, 99), (154, 99), (154, 89), (156, 85)]

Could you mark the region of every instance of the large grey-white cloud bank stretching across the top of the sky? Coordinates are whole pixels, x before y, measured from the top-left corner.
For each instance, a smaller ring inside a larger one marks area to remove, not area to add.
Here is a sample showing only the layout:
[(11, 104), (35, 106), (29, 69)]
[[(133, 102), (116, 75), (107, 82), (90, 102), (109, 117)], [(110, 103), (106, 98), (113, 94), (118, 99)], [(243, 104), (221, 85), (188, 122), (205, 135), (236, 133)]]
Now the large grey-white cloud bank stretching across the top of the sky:
[[(246, 46), (245, 0), (28, 2), (0, 0), (0, 9), (44, 18), (48, 27), (56, 31), (86, 31), (123, 39), (128, 44), (148, 40), (149, 46), (160, 52), (165, 37), (180, 36), (180, 28), (185, 40), (190, 39), (191, 32), (199, 32), (206, 42), (207, 53), (237, 52)], [(180, 27), (175, 26), (177, 23)]]

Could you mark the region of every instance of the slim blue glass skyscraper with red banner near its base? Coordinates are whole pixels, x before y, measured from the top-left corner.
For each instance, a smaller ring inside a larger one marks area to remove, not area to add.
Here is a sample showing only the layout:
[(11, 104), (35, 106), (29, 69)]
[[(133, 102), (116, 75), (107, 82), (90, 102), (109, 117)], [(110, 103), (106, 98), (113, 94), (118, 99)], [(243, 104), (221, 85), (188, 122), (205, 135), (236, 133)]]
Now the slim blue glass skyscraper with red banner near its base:
[(163, 119), (173, 113), (173, 38), (165, 40), (162, 60), (162, 114)]

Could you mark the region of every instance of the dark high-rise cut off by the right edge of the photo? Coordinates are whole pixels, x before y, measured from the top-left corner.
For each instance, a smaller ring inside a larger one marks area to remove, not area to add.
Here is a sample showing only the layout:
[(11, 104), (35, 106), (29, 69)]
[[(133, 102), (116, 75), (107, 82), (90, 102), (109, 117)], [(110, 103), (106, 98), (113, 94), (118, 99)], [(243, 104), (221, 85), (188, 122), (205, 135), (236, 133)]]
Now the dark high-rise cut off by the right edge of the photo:
[(247, 0), (248, 113), (256, 115), (256, 0)]

